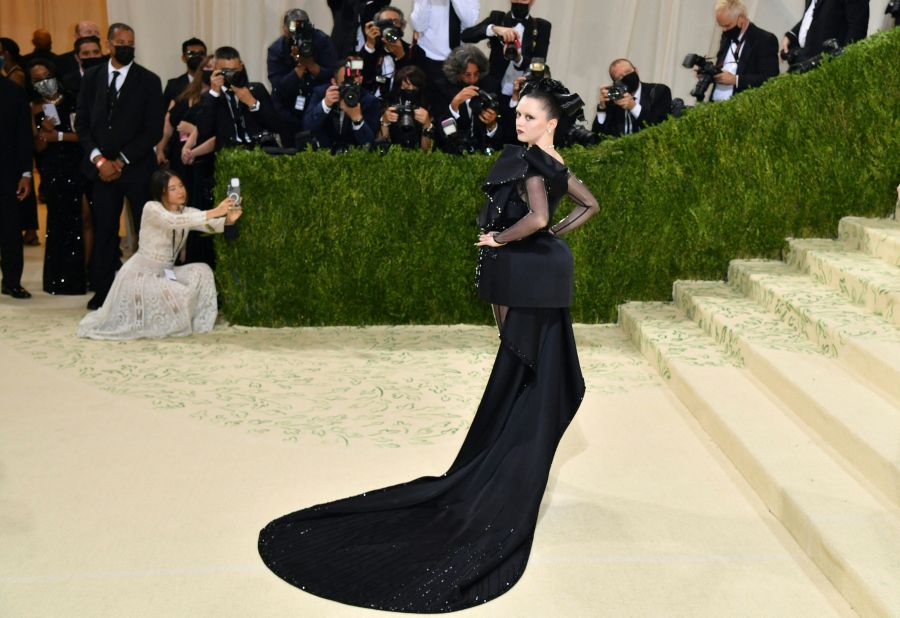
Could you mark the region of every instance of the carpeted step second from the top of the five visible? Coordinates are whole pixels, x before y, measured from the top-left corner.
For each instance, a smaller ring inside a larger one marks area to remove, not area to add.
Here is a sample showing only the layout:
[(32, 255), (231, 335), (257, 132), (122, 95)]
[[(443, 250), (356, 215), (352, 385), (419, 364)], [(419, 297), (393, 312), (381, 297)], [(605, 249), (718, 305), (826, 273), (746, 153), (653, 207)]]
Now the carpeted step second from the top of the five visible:
[(900, 325), (900, 270), (836, 240), (791, 240), (788, 264)]

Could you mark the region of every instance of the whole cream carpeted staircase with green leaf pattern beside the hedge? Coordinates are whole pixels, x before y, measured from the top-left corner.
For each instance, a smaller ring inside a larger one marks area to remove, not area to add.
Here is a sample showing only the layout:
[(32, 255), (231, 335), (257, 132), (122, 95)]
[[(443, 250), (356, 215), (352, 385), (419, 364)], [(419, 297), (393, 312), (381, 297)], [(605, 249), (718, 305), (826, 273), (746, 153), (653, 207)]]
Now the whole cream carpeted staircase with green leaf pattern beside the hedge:
[(677, 281), (619, 325), (861, 616), (900, 616), (900, 223)]

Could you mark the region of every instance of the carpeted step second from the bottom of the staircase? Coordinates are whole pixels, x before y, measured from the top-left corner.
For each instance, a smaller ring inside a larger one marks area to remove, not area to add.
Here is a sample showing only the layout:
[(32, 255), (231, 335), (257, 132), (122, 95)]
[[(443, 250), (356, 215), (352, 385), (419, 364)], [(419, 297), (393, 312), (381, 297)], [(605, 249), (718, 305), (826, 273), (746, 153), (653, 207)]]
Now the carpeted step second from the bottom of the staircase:
[(829, 354), (718, 281), (677, 281), (676, 306), (900, 506), (900, 410)]

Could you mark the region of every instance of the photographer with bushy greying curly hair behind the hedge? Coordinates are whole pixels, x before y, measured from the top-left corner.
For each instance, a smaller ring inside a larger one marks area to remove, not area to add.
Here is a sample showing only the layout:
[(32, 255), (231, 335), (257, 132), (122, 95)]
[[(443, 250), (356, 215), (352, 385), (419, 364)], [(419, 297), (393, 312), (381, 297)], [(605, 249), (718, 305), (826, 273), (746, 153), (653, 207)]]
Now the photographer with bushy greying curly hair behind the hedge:
[(444, 78), (436, 88), (440, 99), (434, 109), (442, 126), (439, 144), (447, 152), (484, 152), (502, 145), (499, 84), (487, 75), (487, 69), (487, 57), (471, 43), (454, 49), (444, 62)]

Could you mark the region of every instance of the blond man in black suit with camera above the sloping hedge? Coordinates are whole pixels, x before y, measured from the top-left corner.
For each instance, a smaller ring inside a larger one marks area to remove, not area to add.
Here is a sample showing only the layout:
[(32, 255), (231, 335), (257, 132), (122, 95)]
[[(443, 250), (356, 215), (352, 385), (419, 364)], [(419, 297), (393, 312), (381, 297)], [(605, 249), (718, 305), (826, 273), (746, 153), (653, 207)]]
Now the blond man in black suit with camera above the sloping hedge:
[(778, 75), (778, 38), (750, 22), (743, 0), (718, 0), (716, 23), (722, 28), (716, 55), (722, 72), (710, 100), (725, 101)]

